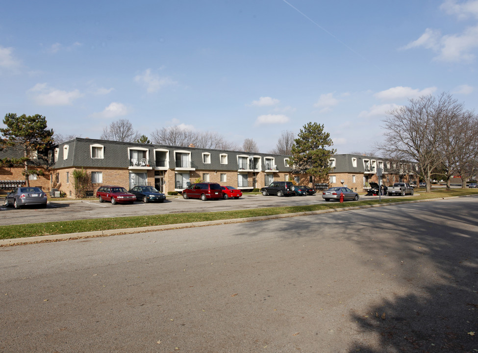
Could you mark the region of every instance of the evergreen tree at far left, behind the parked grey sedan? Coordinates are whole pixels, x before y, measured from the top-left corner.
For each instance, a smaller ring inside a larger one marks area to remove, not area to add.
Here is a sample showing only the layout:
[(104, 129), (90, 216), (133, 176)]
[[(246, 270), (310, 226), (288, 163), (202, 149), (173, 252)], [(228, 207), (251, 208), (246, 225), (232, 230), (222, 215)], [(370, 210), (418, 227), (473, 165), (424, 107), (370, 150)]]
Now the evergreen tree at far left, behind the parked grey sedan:
[(23, 157), (10, 158), (3, 160), (8, 164), (23, 164), (25, 170), (22, 173), (25, 176), (26, 186), (30, 186), (28, 176), (42, 175), (41, 170), (28, 169), (28, 161), (33, 159), (38, 152), (47, 151), (52, 144), (51, 136), (53, 130), (47, 129), (47, 119), (36, 114), (26, 116), (25, 114), (17, 116), (17, 114), (8, 113), (3, 119), (5, 128), (0, 128), (3, 135), (1, 143), (6, 146), (15, 147), (23, 151)]

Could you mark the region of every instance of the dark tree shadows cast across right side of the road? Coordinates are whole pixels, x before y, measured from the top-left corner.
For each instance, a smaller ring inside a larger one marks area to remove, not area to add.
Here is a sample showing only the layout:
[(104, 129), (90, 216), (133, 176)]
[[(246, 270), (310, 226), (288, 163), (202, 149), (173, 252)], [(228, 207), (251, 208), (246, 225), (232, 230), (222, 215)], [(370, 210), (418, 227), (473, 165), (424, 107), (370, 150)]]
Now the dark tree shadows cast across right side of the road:
[[(346, 352), (475, 353), (478, 202), (467, 202), (466, 208), (459, 203), (457, 199), (430, 202), (431, 208), (414, 203), (313, 216), (321, 217), (321, 228), (301, 217), (270, 224), (285, 230), (284, 238), (315, 237), (319, 242), (322, 229), (336, 229), (334, 237), (353, 243), (376, 261), (375, 266), (362, 261), (364, 273), (387, 269), (386, 275), (393, 274), (392, 280), (402, 288), (400, 293), (374, 296), (373, 304), (360, 312), (350, 309), (349, 323), (361, 338)], [(391, 211), (397, 217), (391, 217)], [(239, 235), (260, 231), (253, 223), (244, 227)]]

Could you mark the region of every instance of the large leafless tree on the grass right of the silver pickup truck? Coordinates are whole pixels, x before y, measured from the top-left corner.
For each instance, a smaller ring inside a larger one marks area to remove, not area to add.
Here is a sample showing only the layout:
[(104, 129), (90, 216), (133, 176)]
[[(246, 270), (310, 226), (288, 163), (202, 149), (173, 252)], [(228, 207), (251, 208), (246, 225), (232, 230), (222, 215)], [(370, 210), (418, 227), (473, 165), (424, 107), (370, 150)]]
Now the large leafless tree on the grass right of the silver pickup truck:
[(379, 151), (397, 159), (416, 161), (430, 192), (430, 179), (434, 170), (444, 163), (440, 151), (443, 122), (462, 108), (448, 93), (438, 98), (423, 96), (409, 100), (409, 105), (388, 112), (383, 121), (385, 141), (377, 144)]

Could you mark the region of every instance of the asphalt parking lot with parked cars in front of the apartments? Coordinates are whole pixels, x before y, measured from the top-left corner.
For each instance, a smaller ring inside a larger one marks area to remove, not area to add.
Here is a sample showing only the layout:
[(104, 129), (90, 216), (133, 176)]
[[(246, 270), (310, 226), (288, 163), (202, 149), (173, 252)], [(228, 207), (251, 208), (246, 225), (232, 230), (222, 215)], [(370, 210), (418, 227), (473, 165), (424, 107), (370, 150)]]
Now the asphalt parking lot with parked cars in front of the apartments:
[[(382, 196), (382, 198), (386, 198)], [(378, 196), (361, 196), (360, 200), (378, 199)], [(163, 203), (116, 204), (109, 202), (74, 201), (52, 199), (47, 208), (35, 208), (34, 206), (21, 209), (0, 206), (0, 226), (14, 224), (43, 223), (56, 221), (72, 221), (80, 219), (127, 217), (155, 214), (171, 214), (183, 212), (215, 212), (240, 209), (252, 209), (261, 207), (298, 206), (324, 202), (321, 194), (313, 196), (277, 197), (262, 195), (245, 195), (238, 200), (206, 201), (178, 197), (168, 197)], [(353, 201), (347, 201), (353, 204)], [(325, 202), (324, 202), (325, 203)]]

